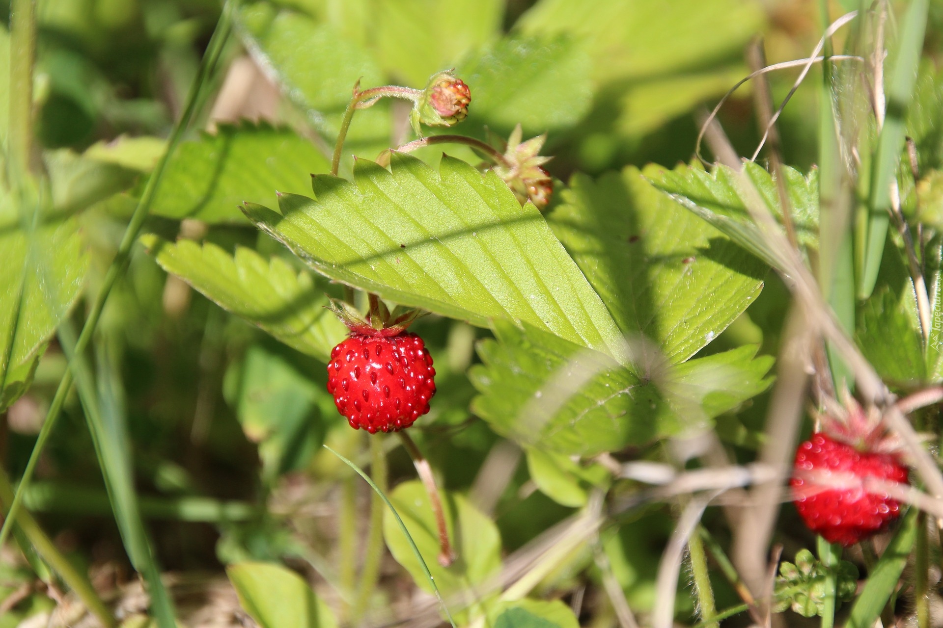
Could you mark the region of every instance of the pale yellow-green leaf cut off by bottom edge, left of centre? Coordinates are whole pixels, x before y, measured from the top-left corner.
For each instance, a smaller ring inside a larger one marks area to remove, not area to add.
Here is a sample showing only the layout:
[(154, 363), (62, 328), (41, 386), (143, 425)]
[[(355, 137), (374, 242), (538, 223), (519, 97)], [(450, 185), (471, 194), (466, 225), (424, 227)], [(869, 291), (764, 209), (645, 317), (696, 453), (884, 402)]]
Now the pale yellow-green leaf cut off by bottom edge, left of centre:
[(242, 608), (261, 628), (336, 628), (334, 613), (295, 572), (272, 563), (226, 568)]

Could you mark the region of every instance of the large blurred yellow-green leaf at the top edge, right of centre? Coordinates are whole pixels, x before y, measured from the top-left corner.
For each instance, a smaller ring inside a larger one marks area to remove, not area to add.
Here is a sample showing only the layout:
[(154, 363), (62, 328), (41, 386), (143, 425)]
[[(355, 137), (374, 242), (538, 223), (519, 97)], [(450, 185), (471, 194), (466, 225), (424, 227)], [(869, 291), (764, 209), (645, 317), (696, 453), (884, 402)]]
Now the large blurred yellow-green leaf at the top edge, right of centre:
[(598, 80), (638, 79), (739, 56), (764, 22), (758, 2), (739, 0), (541, 0), (519, 21), (527, 34), (587, 40)]

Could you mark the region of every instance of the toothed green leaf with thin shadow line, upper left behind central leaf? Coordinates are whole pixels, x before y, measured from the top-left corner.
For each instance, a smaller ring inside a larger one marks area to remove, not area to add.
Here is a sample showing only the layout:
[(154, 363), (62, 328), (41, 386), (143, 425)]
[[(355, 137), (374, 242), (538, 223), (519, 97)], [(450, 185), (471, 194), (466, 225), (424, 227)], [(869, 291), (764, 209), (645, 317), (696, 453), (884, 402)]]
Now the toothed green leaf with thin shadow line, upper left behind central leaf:
[(244, 201), (272, 203), (275, 192), (304, 192), (330, 169), (304, 137), (268, 124), (221, 125), (184, 142), (167, 164), (151, 213), (206, 222), (241, 222)]

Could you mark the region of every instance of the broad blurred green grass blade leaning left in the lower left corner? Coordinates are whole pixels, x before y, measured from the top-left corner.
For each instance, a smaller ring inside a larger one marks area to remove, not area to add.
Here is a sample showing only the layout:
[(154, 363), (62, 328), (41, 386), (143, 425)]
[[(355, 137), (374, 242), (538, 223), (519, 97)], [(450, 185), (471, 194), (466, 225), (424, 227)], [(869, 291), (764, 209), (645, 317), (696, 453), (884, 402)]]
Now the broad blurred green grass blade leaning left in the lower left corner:
[[(78, 396), (105, 477), (108, 498), (124, 541), (124, 549), (135, 570), (147, 580), (157, 625), (160, 628), (174, 628), (174, 605), (160, 580), (160, 569), (141, 520), (138, 495), (134, 490), (131, 448), (122, 404), (116, 396), (119, 387), (115, 385), (117, 377), (114, 369), (108, 366), (101, 369), (96, 390), (91, 365), (84, 356), (74, 354), (75, 331), (71, 321), (66, 320), (59, 327), (59, 341), (72, 364)], [(107, 359), (99, 362), (108, 363)]]

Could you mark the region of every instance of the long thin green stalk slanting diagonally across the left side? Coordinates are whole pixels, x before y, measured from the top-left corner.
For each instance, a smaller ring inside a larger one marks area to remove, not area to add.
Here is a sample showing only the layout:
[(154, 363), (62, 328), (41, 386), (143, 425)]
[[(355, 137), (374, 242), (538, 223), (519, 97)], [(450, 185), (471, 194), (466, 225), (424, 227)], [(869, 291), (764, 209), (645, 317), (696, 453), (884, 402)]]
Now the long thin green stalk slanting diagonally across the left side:
[[(22, 2), (23, 0), (20, 1)], [(147, 185), (144, 187), (143, 194), (141, 194), (141, 201), (138, 201), (138, 205), (135, 207), (134, 213), (131, 215), (131, 219), (124, 230), (124, 236), (122, 237), (121, 244), (118, 247), (118, 252), (115, 253), (115, 257), (111, 261), (111, 266), (108, 266), (108, 272), (105, 275), (105, 280), (102, 282), (101, 289), (91, 304), (88, 318), (85, 321), (85, 325), (82, 327), (82, 331), (78, 336), (78, 340), (75, 342), (75, 355), (82, 355), (88, 348), (89, 343), (91, 342), (91, 336), (95, 330), (95, 327), (98, 325), (98, 320), (101, 318), (103, 310), (105, 309), (105, 304), (108, 301), (108, 295), (111, 293), (111, 288), (113, 288), (115, 283), (118, 282), (119, 277), (121, 277), (122, 273), (124, 272), (124, 267), (127, 265), (127, 262), (130, 259), (131, 248), (137, 241), (138, 234), (141, 233), (141, 227), (144, 224), (144, 219), (147, 217), (148, 212), (150, 211), (151, 202), (154, 201), (154, 197), (157, 194), (157, 189), (160, 185), (164, 170), (167, 168), (167, 163), (170, 161), (171, 155), (174, 154), (177, 144), (180, 143), (184, 131), (189, 126), (190, 121), (193, 118), (193, 114), (196, 111), (196, 103), (200, 89), (203, 87), (204, 83), (206, 83), (209, 74), (215, 68), (216, 62), (219, 60), (220, 54), (223, 51), (223, 43), (229, 36), (229, 31), (231, 30), (232, 26), (233, 8), (232, 2), (226, 2), (226, 5), (223, 7), (223, 15), (220, 17), (220, 21), (216, 24), (216, 29), (213, 31), (213, 36), (207, 45), (207, 52), (200, 63), (199, 72), (197, 72), (193, 81), (193, 86), (190, 88), (190, 96), (188, 97), (187, 106), (184, 109), (180, 120), (177, 121), (177, 123), (174, 125), (174, 130), (167, 145), (167, 151), (161, 155), (160, 160), (157, 162), (157, 167), (154, 169), (154, 174), (151, 175)], [(72, 365), (70, 364), (70, 367), (66, 369), (65, 374), (59, 381), (58, 388), (56, 389), (56, 395), (53, 397), (52, 403), (49, 406), (49, 411), (46, 413), (46, 418), (42, 423), (39, 437), (36, 440), (36, 444), (33, 445), (33, 451), (30, 454), (29, 461), (26, 463), (23, 477), (20, 479), (20, 485), (13, 496), (12, 503), (9, 505), (7, 511), (8, 517), (4, 520), (3, 527), (0, 527), (0, 547), (3, 546), (4, 542), (9, 537), (11, 527), (10, 522), (16, 520), (17, 513), (20, 511), (20, 507), (23, 505), (23, 495), (25, 493), (25, 489), (29, 486), (29, 482), (36, 471), (36, 465), (39, 462), (42, 450), (45, 447), (46, 442), (49, 440), (49, 436), (52, 433), (53, 427), (56, 425), (58, 417), (62, 411), (62, 406), (65, 403), (65, 399), (72, 390), (73, 377)]]

